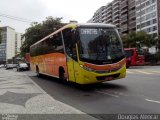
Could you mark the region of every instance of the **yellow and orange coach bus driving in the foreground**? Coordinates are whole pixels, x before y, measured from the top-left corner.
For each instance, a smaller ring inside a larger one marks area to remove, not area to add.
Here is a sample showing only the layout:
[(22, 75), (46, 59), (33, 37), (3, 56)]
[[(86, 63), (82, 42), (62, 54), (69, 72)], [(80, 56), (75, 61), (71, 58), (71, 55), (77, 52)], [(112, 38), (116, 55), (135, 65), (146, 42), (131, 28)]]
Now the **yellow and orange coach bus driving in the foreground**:
[(71, 23), (30, 47), (31, 69), (78, 84), (126, 76), (122, 41), (114, 25)]

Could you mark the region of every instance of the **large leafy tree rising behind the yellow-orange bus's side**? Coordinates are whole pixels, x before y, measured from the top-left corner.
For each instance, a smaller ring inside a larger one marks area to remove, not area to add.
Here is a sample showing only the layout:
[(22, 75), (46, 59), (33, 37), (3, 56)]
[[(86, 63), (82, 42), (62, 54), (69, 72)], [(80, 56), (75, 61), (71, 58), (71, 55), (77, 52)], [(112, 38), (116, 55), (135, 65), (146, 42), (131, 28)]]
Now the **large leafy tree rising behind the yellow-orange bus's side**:
[(31, 27), (26, 29), (25, 34), (22, 36), (22, 38), (25, 38), (25, 41), (21, 47), (21, 55), (24, 56), (25, 53), (28, 53), (31, 45), (64, 26), (61, 23), (61, 19), (50, 16), (45, 21), (42, 21), (42, 23), (32, 23)]

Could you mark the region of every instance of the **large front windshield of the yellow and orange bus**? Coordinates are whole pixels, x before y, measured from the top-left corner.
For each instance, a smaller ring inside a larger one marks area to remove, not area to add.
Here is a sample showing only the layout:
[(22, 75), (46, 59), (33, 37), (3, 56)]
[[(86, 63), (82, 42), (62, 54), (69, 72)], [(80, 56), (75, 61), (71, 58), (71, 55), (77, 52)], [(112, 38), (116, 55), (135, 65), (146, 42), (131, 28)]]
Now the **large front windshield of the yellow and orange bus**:
[(111, 64), (123, 59), (122, 42), (115, 28), (79, 28), (79, 58), (94, 64)]

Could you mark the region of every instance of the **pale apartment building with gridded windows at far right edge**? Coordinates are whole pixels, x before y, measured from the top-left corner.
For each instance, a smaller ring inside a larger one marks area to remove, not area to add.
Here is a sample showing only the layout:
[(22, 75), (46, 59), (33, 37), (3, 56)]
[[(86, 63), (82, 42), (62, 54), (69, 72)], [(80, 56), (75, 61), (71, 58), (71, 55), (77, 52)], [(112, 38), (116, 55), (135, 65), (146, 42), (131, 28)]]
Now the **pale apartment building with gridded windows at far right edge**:
[(160, 1), (136, 0), (136, 29), (157, 36), (160, 30)]

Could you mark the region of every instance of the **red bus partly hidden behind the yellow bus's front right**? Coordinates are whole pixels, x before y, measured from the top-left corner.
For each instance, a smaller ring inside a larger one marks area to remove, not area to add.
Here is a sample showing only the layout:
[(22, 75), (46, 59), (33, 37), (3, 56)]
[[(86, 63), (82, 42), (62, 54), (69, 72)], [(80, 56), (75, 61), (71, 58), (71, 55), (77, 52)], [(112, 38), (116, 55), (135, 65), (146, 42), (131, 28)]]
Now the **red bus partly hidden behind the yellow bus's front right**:
[(142, 50), (136, 48), (124, 48), (126, 55), (126, 67), (144, 65), (145, 57)]

